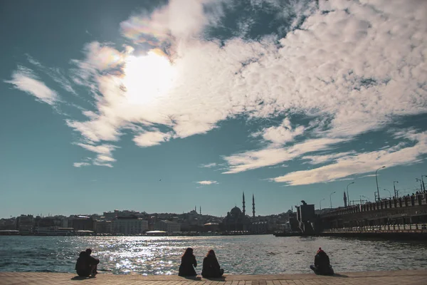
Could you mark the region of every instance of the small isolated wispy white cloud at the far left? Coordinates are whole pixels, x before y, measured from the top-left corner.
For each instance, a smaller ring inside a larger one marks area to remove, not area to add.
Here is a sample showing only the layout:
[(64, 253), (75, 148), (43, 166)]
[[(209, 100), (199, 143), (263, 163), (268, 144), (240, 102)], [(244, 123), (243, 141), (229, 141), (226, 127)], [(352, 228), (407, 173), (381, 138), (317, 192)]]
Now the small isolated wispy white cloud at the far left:
[(54, 90), (39, 81), (31, 69), (22, 66), (19, 66), (18, 70), (12, 73), (10, 81), (4, 82), (13, 84), (15, 88), (31, 94), (49, 105), (54, 105), (59, 100), (59, 96)]

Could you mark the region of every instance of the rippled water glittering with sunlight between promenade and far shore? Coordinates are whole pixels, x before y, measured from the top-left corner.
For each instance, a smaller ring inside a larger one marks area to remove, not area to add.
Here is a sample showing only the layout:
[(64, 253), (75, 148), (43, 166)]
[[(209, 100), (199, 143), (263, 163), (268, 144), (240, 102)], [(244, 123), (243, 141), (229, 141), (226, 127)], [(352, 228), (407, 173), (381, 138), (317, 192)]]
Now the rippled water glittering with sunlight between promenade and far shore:
[(334, 237), (0, 237), (0, 271), (73, 272), (90, 247), (99, 269), (115, 274), (177, 274), (181, 254), (193, 247), (199, 266), (214, 249), (228, 274), (308, 273), (318, 247), (335, 271), (421, 269), (427, 244)]

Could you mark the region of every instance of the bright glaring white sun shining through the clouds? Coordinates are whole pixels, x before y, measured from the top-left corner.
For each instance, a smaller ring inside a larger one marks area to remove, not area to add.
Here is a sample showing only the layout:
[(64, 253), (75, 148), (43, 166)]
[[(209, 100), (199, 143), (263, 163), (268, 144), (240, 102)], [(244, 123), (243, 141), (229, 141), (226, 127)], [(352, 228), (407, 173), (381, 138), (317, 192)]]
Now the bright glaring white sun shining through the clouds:
[(162, 51), (152, 50), (145, 56), (128, 56), (122, 83), (131, 104), (147, 105), (172, 88), (175, 68)]

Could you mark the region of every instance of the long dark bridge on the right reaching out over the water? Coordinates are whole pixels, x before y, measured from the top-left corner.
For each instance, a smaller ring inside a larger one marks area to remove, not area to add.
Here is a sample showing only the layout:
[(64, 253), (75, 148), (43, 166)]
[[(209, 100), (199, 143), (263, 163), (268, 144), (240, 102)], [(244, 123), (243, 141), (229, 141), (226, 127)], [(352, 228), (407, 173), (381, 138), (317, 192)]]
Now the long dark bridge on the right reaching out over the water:
[(297, 207), (298, 231), (322, 235), (427, 235), (427, 192), (382, 199), (315, 214), (315, 206)]

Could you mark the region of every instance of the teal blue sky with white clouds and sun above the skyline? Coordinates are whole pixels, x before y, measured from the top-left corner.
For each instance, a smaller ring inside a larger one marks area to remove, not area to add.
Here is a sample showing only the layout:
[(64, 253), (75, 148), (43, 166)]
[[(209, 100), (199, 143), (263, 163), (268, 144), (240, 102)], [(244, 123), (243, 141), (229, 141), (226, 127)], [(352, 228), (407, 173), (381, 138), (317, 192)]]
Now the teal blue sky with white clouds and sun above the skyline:
[(257, 215), (338, 207), (347, 185), (373, 201), (383, 166), (380, 197), (415, 192), (426, 15), (423, 0), (1, 1), (0, 217), (224, 216), (242, 192)]

